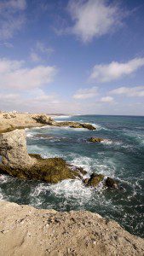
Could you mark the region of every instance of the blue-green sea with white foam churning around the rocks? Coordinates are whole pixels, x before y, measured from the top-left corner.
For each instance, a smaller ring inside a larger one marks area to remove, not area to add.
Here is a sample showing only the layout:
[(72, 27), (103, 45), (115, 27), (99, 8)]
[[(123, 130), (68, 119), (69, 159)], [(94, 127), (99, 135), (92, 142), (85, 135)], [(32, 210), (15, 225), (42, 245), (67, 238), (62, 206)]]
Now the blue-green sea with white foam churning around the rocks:
[[(123, 189), (85, 188), (80, 180), (57, 184), (0, 177), (0, 199), (58, 211), (88, 210), (112, 218), (144, 237), (144, 117), (77, 115), (55, 119), (86, 122), (95, 131), (50, 127), (26, 129), (29, 153), (62, 157), (90, 174), (118, 179)], [(102, 137), (102, 143), (89, 143)]]

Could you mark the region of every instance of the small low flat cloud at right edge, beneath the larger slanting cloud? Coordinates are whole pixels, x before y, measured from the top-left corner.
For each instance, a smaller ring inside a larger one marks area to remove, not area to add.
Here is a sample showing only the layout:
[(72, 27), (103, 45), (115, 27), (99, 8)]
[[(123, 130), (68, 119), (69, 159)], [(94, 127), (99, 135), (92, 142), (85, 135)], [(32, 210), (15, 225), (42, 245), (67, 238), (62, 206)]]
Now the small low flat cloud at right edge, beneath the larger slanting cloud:
[(125, 95), (125, 96), (144, 96), (144, 86), (135, 87), (119, 87), (117, 89), (111, 90), (109, 93), (115, 95)]

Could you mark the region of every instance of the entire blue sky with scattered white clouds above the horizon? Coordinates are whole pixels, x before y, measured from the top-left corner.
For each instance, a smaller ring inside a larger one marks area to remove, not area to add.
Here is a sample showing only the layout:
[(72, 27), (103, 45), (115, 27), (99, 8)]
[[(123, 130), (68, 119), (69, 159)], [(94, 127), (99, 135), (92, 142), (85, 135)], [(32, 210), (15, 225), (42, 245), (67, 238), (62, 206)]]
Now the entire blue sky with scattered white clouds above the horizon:
[(0, 110), (144, 115), (144, 1), (0, 0)]

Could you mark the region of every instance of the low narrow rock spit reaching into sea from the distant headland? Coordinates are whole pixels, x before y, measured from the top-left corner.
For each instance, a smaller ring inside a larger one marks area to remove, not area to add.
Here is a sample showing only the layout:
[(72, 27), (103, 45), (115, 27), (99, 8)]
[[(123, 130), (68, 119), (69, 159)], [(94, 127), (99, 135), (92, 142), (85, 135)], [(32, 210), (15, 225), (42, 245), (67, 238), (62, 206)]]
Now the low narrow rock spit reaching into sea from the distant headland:
[(55, 126), (69, 126), (71, 128), (85, 128), (85, 129), (88, 129), (88, 130), (95, 130), (95, 126), (93, 125), (90, 125), (90, 124), (83, 124), (83, 123), (78, 123), (78, 122), (55, 122), (53, 121), (52, 122), (52, 125), (55, 125)]

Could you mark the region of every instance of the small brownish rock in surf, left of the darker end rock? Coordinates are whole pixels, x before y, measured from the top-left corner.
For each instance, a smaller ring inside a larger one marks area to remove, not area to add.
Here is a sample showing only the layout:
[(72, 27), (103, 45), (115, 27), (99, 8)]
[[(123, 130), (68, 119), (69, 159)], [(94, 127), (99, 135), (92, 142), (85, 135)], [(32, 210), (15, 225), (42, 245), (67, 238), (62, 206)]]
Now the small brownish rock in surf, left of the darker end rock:
[(84, 180), (84, 184), (86, 185), (86, 186), (89, 186), (89, 187), (97, 187), (97, 185), (99, 184), (99, 183), (101, 183), (101, 181), (103, 180), (103, 178), (104, 178), (104, 175), (102, 175), (102, 174), (97, 174), (97, 173), (92, 173), (91, 175), (90, 175), (90, 177), (89, 178), (86, 178), (85, 180)]

